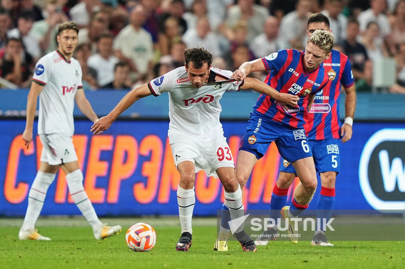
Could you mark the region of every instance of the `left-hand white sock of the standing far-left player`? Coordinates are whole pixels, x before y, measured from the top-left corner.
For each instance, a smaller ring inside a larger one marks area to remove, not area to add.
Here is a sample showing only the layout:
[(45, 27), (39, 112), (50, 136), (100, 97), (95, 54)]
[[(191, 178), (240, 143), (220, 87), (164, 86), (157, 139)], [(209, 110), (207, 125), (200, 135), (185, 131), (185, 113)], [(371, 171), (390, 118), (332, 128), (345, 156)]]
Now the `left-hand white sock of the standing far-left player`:
[(23, 231), (33, 231), (36, 220), (41, 213), (44, 205), (45, 196), (47, 195), (48, 187), (55, 179), (56, 174), (44, 173), (38, 171), (34, 182), (31, 185), (28, 193), (28, 207), (21, 229)]

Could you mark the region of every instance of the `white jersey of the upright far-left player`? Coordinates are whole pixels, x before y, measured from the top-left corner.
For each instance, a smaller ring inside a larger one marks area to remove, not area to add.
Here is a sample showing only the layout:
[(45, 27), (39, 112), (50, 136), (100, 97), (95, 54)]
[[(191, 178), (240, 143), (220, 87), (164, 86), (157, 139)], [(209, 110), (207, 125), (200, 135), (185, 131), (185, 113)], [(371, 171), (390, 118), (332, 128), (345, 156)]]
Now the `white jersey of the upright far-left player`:
[(38, 135), (75, 132), (73, 109), (77, 89), (83, 88), (79, 62), (70, 62), (58, 51), (48, 53), (36, 63), (32, 80), (44, 88), (39, 95)]

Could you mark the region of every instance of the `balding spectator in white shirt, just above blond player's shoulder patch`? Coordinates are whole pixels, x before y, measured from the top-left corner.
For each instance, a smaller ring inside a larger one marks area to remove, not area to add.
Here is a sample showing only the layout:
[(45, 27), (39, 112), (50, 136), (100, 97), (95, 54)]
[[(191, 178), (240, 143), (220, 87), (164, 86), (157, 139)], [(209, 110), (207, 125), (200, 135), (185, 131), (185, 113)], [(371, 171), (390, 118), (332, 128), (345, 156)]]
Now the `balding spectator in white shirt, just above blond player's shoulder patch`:
[(270, 55), (281, 49), (279, 42), (279, 21), (276, 17), (270, 16), (264, 23), (264, 33), (257, 36), (250, 43), (250, 50), (255, 55), (255, 58), (264, 57)]

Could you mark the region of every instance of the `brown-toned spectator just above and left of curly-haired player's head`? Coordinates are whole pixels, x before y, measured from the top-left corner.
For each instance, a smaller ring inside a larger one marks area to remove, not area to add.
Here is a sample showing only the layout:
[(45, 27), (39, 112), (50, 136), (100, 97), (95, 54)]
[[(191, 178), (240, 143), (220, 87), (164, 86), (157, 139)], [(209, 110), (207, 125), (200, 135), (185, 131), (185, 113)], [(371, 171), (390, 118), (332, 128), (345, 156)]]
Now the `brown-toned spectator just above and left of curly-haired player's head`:
[(160, 55), (168, 55), (172, 45), (179, 40), (181, 40), (179, 23), (174, 17), (169, 17), (164, 22), (163, 32), (158, 36)]

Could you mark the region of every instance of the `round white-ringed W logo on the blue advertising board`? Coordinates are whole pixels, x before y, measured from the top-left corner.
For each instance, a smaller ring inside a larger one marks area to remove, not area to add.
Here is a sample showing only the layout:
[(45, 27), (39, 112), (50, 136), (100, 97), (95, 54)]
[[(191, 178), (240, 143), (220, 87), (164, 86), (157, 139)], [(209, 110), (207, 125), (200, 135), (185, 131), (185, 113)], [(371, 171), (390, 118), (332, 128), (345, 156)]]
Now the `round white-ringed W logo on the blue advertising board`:
[(360, 188), (376, 210), (405, 208), (405, 129), (384, 128), (375, 132), (360, 156)]

